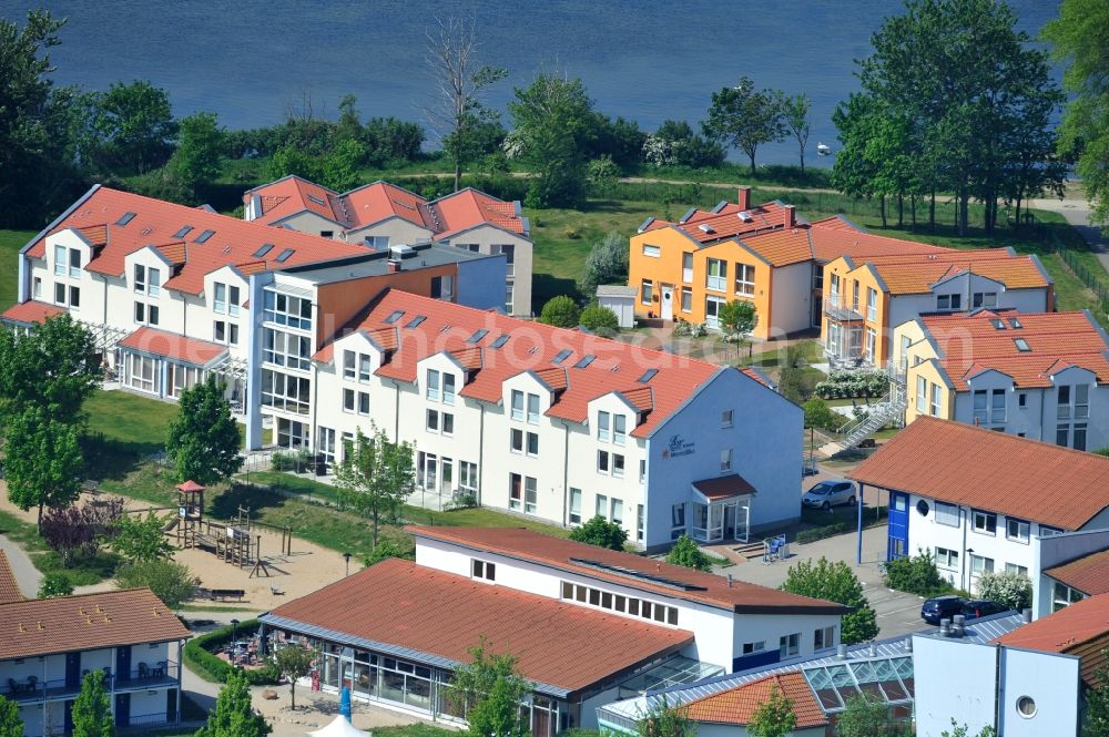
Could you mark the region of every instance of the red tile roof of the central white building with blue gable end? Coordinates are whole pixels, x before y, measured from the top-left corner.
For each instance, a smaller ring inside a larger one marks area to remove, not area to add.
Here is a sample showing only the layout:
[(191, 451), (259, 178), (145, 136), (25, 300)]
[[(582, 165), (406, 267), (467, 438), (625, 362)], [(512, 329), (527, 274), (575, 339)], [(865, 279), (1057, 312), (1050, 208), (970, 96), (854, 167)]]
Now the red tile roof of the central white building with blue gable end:
[[(385, 321), (394, 311), (404, 313), (396, 325), (406, 327), (399, 330), (399, 346), (395, 354), (377, 370), (379, 376), (411, 382), (416, 380), (416, 365), (428, 356), (481, 348), (481, 369), (474, 373), (474, 378), (462, 387), (460, 393), (496, 403), (502, 400), (502, 383), (506, 379), (529, 370), (551, 368), (556, 355), (569, 349), (570, 356), (559, 367), (566, 369), (566, 390), (556, 398), (547, 413), (550, 417), (583, 422), (591, 400), (617, 391), (633, 392), (632, 398), (642, 403), (642, 397), (635, 392), (649, 387), (652, 390), (653, 409), (632, 430), (637, 438), (649, 437), (660, 422), (670, 417), (718, 371), (734, 370), (580, 330), (529, 323), (495, 311), (397, 290), (384, 291), (367, 313), (346, 326), (339, 335), (355, 330), (394, 329), (393, 325)], [(416, 315), (423, 315), (426, 319), (415, 328), (407, 327), (409, 318)], [(477, 342), (469, 342), (468, 338), (478, 329), (488, 332)], [(510, 336), (508, 342), (494, 348), (492, 345), (503, 334)], [(576, 366), (580, 359), (590, 355), (596, 356), (596, 360), (582, 368)], [(325, 348), (317, 351), (314, 358), (329, 361), (330, 351)], [(657, 369), (657, 373), (649, 383), (640, 382), (640, 377), (652, 368)]]

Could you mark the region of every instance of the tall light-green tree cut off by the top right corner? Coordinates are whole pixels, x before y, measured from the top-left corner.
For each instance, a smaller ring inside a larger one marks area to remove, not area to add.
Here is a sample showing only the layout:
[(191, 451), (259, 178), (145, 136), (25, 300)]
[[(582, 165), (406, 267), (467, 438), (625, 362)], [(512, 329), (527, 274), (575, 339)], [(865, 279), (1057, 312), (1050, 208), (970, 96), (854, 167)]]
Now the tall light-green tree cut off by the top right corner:
[(1078, 154), (1092, 222), (1109, 224), (1109, 3), (1062, 0), (1059, 18), (1044, 27), (1055, 58), (1070, 62), (1062, 76), (1071, 93), (1059, 149)]

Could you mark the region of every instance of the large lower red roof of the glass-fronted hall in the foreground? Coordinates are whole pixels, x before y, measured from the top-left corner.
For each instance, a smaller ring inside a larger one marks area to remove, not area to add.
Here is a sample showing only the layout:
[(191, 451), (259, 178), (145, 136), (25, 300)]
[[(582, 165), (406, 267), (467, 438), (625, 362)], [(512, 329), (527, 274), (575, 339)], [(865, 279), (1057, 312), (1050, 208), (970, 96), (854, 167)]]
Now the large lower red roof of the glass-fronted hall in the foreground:
[[(482, 637), (520, 674), (567, 692), (684, 647), (683, 629), (389, 559), (275, 608), (273, 616), (469, 663)], [(588, 653), (589, 657), (582, 657)]]

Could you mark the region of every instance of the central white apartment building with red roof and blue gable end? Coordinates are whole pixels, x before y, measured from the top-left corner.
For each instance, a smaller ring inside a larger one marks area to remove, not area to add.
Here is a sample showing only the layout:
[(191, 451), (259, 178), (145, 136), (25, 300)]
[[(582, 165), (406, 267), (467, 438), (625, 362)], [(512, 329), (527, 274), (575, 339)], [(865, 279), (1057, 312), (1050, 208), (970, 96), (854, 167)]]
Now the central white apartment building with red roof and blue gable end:
[(800, 514), (802, 412), (735, 369), (395, 290), (312, 359), (328, 463), (373, 423), (426, 492), (648, 549)]

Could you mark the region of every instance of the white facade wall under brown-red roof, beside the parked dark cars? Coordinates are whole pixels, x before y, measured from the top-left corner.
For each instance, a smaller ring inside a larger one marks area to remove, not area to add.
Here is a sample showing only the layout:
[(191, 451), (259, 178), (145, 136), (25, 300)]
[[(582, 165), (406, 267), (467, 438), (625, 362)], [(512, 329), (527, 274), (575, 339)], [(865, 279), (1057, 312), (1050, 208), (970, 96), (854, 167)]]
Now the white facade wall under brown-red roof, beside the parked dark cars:
[[(920, 514), (923, 509), (920, 502), (927, 506), (927, 514)], [(958, 554), (957, 564), (945, 565), (943, 560), (938, 560), (939, 573), (956, 587), (971, 592), (977, 581), (977, 575), (971, 573), (971, 554), (991, 560), (995, 573), (1005, 571), (1006, 564), (1009, 564), (1021, 566), (1030, 576), (1034, 574), (1036, 570), (1034, 538), (1042, 534), (1038, 523), (1021, 520), (1028, 523), (1029, 532), (1027, 541), (1020, 541), (1008, 538), (1006, 515), (995, 514), (996, 530), (994, 534), (988, 534), (974, 529), (976, 510), (968, 506), (959, 509), (958, 526), (949, 526), (937, 522), (935, 500), (909, 494), (908, 553), (915, 555), (918, 550), (925, 550), (935, 555), (939, 547), (954, 551)], [(1048, 534), (1052, 531), (1054, 528), (1049, 529)]]

